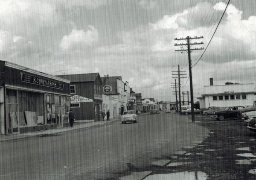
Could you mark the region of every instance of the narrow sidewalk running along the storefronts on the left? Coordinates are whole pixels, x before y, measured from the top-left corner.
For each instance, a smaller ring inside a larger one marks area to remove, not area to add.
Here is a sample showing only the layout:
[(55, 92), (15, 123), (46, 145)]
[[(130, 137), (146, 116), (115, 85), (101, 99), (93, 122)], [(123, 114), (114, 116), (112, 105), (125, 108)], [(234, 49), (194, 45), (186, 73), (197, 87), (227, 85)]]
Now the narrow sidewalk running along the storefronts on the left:
[(21, 138), (28, 138), (28, 137), (33, 137), (33, 136), (54, 136), (58, 135), (61, 132), (67, 132), (67, 131), (73, 131), (76, 129), (83, 129), (86, 127), (92, 127), (92, 126), (97, 126), (97, 125), (104, 125), (104, 124), (109, 124), (111, 122), (115, 122), (119, 120), (118, 118), (111, 119), (110, 121), (89, 121), (89, 122), (74, 122), (73, 127), (63, 127), (63, 128), (57, 128), (57, 129), (49, 129), (46, 131), (37, 131), (37, 132), (28, 132), (28, 133), (23, 133), (23, 134), (13, 134), (13, 135), (0, 135), (0, 142), (1, 141), (10, 141), (14, 139), (21, 139)]

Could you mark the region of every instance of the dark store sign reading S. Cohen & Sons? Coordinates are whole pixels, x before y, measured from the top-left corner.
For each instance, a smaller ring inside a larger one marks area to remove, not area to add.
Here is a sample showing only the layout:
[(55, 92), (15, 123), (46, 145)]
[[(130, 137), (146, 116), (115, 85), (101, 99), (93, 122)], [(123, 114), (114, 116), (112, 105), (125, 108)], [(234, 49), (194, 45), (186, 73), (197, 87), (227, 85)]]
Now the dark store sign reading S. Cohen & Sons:
[(39, 78), (36, 76), (31, 76), (28, 74), (23, 74), (21, 73), (21, 81), (25, 83), (31, 83), (31, 84), (36, 84), (36, 85), (42, 85), (46, 86), (49, 88), (56, 88), (56, 89), (61, 89), (63, 90), (64, 83), (58, 83), (55, 81), (51, 81), (45, 78)]

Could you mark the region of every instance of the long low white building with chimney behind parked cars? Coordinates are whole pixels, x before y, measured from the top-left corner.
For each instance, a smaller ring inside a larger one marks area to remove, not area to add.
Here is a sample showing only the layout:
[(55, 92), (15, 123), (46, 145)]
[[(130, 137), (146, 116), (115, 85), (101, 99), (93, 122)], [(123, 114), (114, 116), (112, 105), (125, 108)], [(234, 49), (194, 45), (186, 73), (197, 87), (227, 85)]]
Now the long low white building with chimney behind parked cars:
[(206, 85), (204, 89), (201, 89), (201, 95), (197, 99), (199, 99), (200, 108), (248, 106), (253, 104), (255, 94), (254, 83)]

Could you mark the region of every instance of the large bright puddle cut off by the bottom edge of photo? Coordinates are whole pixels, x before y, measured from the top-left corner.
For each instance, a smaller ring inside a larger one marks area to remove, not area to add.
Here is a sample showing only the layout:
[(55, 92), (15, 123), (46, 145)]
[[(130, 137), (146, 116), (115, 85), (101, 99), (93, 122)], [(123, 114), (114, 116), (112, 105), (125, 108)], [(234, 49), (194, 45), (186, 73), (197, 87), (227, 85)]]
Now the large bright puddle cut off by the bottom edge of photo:
[(207, 175), (201, 171), (179, 172), (170, 174), (149, 175), (145, 180), (206, 180)]

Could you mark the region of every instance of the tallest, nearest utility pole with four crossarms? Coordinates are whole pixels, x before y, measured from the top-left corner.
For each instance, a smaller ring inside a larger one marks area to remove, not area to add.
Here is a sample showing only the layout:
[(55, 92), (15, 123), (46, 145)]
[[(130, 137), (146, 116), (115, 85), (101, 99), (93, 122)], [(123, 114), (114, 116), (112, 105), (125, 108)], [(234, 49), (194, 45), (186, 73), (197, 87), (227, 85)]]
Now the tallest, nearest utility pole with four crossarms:
[[(186, 51), (188, 53), (188, 64), (189, 64), (189, 73), (190, 73), (190, 101), (191, 101), (191, 117), (192, 117), (192, 122), (194, 122), (194, 97), (193, 97), (193, 83), (192, 83), (192, 67), (191, 67), (191, 56), (190, 56), (190, 53), (192, 51), (195, 51), (195, 50), (203, 50), (204, 48), (194, 48), (194, 49), (191, 49), (191, 46), (192, 45), (199, 45), (199, 44), (204, 44), (204, 42), (193, 42), (191, 43), (191, 40), (192, 39), (201, 39), (201, 38), (204, 38), (203, 36), (200, 36), (200, 37), (190, 37), (190, 36), (187, 36), (185, 38), (174, 38), (175, 41), (180, 41), (180, 40), (185, 40), (187, 42), (187, 44), (174, 44), (174, 46), (180, 46), (180, 50), (175, 50), (175, 51), (181, 51), (181, 53), (183, 53), (183, 51)], [(184, 49), (183, 46), (186, 46), (187, 49)]]

